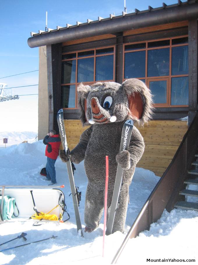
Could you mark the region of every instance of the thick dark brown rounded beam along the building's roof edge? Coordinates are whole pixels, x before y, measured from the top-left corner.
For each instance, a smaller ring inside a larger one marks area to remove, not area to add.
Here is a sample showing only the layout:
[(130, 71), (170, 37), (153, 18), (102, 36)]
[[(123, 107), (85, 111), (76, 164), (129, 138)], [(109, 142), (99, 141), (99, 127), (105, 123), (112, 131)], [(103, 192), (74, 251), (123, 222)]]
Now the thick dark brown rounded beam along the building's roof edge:
[[(72, 25), (69, 28), (60, 28), (53, 32), (33, 34), (33, 37), (28, 39), (28, 45), (33, 48), (82, 39), (88, 36), (93, 37), (102, 34), (113, 34), (115, 32), (144, 27), (145, 21), (147, 26), (152, 26), (182, 21), (184, 17), (185, 19), (198, 18), (198, 4), (196, 0), (184, 2), (180, 5), (163, 5), (159, 8), (153, 8), (151, 11), (137, 11), (136, 13), (104, 18), (101, 19), (101, 21), (90, 21), (89, 24), (82, 23), (78, 26)], [(98, 23), (97, 27), (96, 23)]]

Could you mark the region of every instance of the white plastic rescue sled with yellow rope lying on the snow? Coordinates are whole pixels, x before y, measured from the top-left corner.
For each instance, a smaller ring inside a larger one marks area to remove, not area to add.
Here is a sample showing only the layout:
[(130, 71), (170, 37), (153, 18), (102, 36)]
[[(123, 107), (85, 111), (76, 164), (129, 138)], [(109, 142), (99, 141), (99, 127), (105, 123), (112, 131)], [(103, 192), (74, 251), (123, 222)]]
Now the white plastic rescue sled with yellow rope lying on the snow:
[[(31, 193), (33, 195), (33, 198)], [(58, 188), (46, 188), (46, 187), (35, 188), (30, 186), (22, 188), (14, 188), (14, 187), (5, 188), (3, 186), (1, 188), (0, 186), (0, 196), (4, 197), (6, 195), (13, 197), (15, 199), (15, 203), (17, 206), (14, 207), (14, 214), (17, 217), (13, 215), (12, 219), (10, 219), (13, 221), (15, 221), (16, 219), (19, 220), (24, 218), (30, 220), (30, 217), (36, 214), (36, 211), (47, 214), (53, 208), (54, 209), (49, 214), (50, 215), (55, 214), (58, 218), (60, 217), (60, 214), (63, 215), (64, 212), (66, 212), (65, 195), (62, 192), (62, 190), (59, 190)], [(0, 221), (5, 221), (2, 220), (3, 210), (5, 213), (5, 209), (3, 208), (5, 207), (5, 205), (3, 204), (4, 204), (3, 200), (1, 200)], [(67, 214), (66, 212), (64, 219), (68, 219), (68, 216), (69, 214)], [(34, 221), (38, 220), (34, 219)]]

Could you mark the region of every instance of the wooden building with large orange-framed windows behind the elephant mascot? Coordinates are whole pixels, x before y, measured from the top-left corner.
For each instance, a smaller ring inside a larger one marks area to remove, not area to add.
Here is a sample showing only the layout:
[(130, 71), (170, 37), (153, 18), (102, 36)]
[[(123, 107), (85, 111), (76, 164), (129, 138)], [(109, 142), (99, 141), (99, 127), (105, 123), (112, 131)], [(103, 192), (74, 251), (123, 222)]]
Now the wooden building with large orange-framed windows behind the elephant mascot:
[[(197, 18), (197, 1), (178, 0), (31, 33), (29, 46), (40, 47), (39, 75), (46, 75), (46, 82), (39, 77), (39, 132), (42, 124), (58, 130), (56, 114), (63, 108), (73, 148), (86, 129), (79, 121), (78, 84), (141, 79), (154, 95), (155, 111), (153, 120), (139, 128), (146, 148), (138, 166), (161, 176), (197, 112)], [(188, 124), (179, 120), (186, 116)]]

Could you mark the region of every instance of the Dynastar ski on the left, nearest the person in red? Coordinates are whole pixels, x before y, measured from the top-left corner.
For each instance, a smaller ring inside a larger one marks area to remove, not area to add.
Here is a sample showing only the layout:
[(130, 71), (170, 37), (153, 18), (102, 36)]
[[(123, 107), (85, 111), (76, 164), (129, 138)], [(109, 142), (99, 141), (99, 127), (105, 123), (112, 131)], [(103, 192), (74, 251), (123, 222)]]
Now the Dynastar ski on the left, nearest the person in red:
[[(67, 145), (67, 139), (66, 139), (66, 132), (65, 132), (65, 126), (64, 126), (64, 120), (63, 120), (63, 110), (59, 110), (57, 113), (57, 122), (59, 125), (59, 131), (61, 135), (61, 141), (63, 145), (63, 149), (66, 152), (66, 155), (68, 156), (68, 145)], [(70, 182), (70, 188), (71, 188), (71, 194), (73, 198), (73, 204), (74, 204), (74, 211), (75, 211), (75, 217), (76, 217), (76, 225), (77, 225), (77, 231), (81, 230), (81, 236), (83, 236), (82, 233), (82, 225), (80, 221), (80, 213), (79, 213), (79, 193), (78, 189), (75, 186), (74, 183), (74, 175), (73, 175), (73, 167), (70, 161), (70, 158), (68, 157), (68, 161), (66, 162), (67, 165), (67, 171), (69, 176), (69, 182)]]

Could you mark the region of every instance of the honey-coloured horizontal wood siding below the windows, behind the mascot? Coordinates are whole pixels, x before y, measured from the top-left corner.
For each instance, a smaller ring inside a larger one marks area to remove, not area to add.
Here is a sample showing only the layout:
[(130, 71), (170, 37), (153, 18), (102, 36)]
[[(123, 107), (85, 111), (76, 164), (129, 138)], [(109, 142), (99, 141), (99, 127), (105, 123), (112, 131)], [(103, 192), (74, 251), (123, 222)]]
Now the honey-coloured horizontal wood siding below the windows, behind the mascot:
[[(88, 127), (82, 127), (80, 120), (64, 120), (64, 123), (68, 146), (72, 150)], [(149, 169), (157, 176), (162, 176), (188, 129), (187, 121), (153, 120), (148, 125), (137, 128), (145, 143), (144, 154), (137, 167)]]

